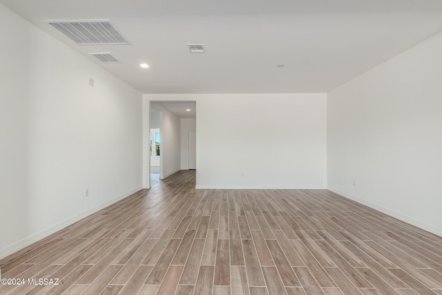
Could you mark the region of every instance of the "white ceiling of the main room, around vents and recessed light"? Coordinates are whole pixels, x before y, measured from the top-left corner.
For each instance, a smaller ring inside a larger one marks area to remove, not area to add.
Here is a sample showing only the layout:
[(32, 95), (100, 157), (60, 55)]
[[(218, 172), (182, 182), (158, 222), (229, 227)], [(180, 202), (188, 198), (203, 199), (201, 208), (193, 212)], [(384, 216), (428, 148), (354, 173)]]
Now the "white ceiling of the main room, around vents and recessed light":
[[(0, 3), (142, 93), (328, 92), (442, 31), (441, 0)], [(131, 45), (77, 46), (44, 19), (111, 19)], [(206, 53), (192, 55), (189, 43)]]

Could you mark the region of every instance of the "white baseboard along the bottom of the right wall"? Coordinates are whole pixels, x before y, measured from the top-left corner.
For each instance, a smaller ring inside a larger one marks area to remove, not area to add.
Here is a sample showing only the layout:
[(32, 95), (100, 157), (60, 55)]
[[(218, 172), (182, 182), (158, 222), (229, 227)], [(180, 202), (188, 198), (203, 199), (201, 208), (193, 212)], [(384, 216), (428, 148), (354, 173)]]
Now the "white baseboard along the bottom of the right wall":
[(439, 229), (439, 227), (434, 227), (433, 225), (429, 225), (425, 222), (414, 219), (410, 216), (406, 216), (402, 213), (392, 211), (392, 210), (387, 209), (385, 207), (379, 206), (378, 204), (374, 204), (372, 202), (367, 202), (366, 200), (363, 200), (361, 198), (357, 198), (356, 196), (353, 196), (351, 193), (347, 193), (345, 191), (340, 191), (338, 189), (334, 189), (333, 187), (329, 187), (328, 190), (333, 191), (334, 193), (338, 193), (338, 195), (343, 196), (344, 198), (354, 200), (355, 202), (364, 204), (367, 207), (370, 207), (370, 208), (375, 209), (377, 211), (381, 211), (382, 213), (385, 213), (389, 216), (397, 218), (398, 220), (402, 220), (403, 222), (407, 222), (410, 225), (414, 225), (415, 227), (419, 227), (420, 229), (424, 229), (425, 231), (430, 231), (430, 233), (432, 233), (432, 234), (435, 234), (437, 236), (442, 236), (442, 229)]

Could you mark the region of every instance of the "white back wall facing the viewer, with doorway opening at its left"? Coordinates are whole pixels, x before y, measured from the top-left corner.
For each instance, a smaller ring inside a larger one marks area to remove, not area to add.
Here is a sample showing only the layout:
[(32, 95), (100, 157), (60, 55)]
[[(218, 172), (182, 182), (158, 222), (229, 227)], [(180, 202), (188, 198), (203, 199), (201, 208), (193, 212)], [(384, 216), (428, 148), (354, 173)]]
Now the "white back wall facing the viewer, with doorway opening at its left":
[(144, 95), (144, 99), (196, 101), (198, 188), (327, 187), (325, 94)]

